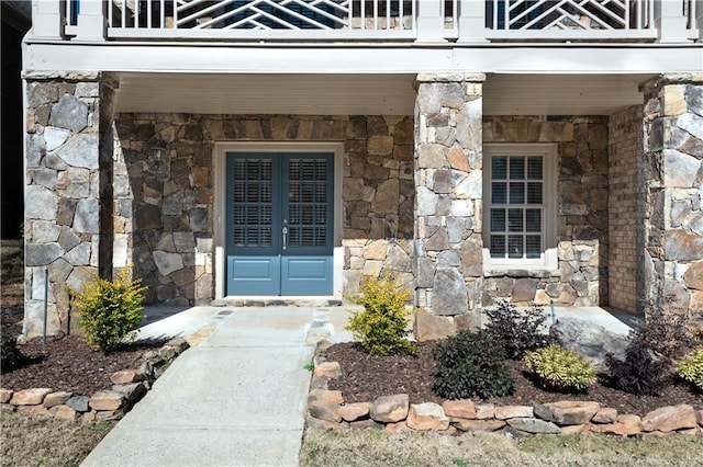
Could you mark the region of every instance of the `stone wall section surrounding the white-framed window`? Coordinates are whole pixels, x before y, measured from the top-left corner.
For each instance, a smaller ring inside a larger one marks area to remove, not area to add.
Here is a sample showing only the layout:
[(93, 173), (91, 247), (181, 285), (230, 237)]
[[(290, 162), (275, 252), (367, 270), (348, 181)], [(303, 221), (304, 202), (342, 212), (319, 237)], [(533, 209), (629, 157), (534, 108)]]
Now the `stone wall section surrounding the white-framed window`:
[(483, 305), (595, 306), (607, 303), (606, 116), (486, 116), (483, 141), (556, 143), (557, 271), (487, 272)]

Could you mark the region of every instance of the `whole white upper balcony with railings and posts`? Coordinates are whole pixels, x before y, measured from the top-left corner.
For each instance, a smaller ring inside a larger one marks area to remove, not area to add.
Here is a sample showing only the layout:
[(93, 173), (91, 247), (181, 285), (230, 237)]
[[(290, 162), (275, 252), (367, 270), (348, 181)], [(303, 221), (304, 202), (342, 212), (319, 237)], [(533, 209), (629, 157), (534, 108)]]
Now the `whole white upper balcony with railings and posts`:
[(703, 0), (35, 0), (34, 36), (108, 42), (690, 43)]

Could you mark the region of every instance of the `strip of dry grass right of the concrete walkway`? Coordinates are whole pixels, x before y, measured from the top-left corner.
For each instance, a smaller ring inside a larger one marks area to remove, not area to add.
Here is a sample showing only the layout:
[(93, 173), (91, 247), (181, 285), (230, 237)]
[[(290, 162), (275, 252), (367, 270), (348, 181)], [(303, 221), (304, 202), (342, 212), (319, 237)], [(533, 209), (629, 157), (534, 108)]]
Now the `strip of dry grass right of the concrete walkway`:
[(703, 438), (604, 435), (511, 440), (496, 433), (389, 435), (380, 430), (309, 430), (300, 465), (313, 466), (702, 466)]

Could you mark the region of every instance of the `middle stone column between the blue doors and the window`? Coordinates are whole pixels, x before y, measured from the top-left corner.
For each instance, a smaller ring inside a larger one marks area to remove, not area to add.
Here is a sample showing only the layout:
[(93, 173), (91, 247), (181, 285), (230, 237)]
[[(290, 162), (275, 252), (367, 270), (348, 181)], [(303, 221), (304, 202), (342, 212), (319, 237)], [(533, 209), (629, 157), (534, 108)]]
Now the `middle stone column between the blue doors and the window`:
[(419, 340), (475, 326), (482, 288), (483, 75), (419, 75), (415, 305)]

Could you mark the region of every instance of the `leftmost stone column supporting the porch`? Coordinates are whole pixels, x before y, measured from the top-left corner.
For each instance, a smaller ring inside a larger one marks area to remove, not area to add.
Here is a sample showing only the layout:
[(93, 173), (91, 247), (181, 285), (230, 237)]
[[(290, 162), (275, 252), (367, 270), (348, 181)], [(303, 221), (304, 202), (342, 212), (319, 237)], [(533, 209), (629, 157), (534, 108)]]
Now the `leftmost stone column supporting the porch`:
[(24, 339), (42, 334), (46, 270), (49, 335), (66, 331), (67, 286), (110, 275), (113, 88), (99, 73), (25, 77)]

